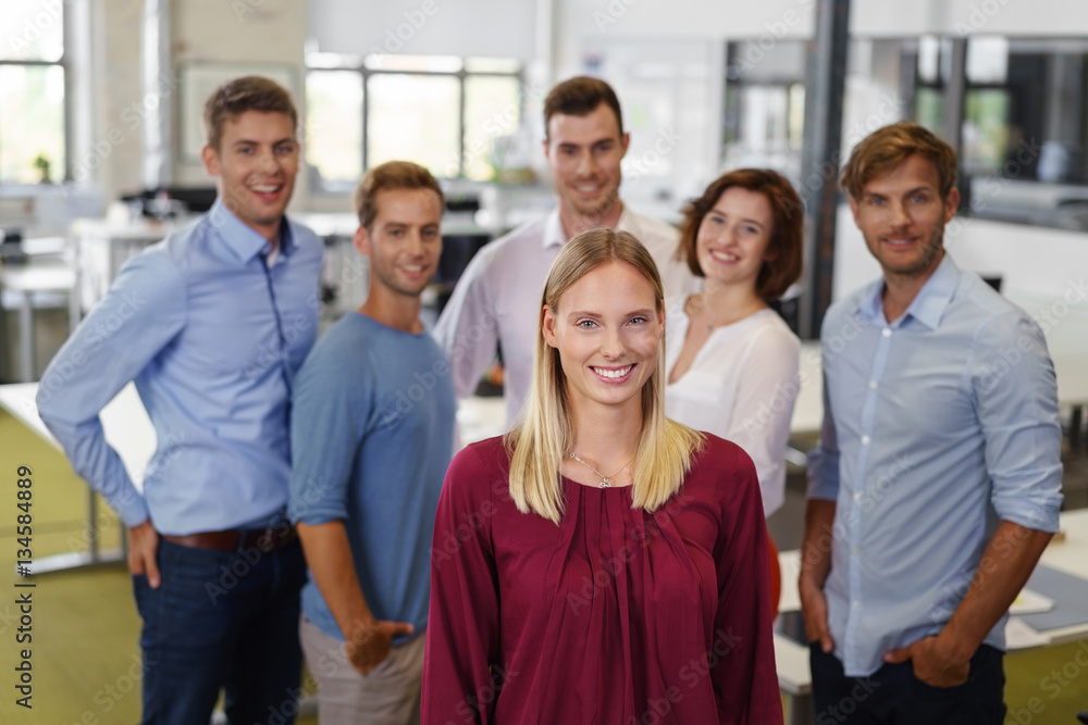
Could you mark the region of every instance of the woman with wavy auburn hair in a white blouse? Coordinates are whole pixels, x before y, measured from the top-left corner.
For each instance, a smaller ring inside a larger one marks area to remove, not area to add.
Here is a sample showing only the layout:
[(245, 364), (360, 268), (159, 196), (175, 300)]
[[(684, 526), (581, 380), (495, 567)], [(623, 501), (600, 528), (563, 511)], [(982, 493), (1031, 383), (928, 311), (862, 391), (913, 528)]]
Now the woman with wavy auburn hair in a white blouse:
[(703, 291), (668, 314), (666, 413), (752, 457), (768, 516), (786, 498), (801, 341), (767, 302), (801, 276), (803, 229), (801, 199), (780, 174), (716, 179), (684, 210), (677, 251)]

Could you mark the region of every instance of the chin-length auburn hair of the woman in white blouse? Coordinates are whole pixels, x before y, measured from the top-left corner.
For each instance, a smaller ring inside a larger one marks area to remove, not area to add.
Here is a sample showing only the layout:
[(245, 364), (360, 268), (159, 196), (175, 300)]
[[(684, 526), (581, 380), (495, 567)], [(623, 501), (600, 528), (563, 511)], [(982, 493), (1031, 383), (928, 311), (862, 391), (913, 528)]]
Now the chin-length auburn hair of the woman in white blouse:
[(801, 277), (805, 215), (801, 197), (781, 174), (769, 168), (737, 168), (718, 177), (706, 191), (683, 210), (677, 259), (687, 262), (693, 274), (706, 276), (698, 264), (695, 239), (706, 214), (730, 187), (758, 191), (770, 202), (774, 227), (767, 241), (768, 259), (756, 277), (755, 293), (763, 300), (776, 300)]

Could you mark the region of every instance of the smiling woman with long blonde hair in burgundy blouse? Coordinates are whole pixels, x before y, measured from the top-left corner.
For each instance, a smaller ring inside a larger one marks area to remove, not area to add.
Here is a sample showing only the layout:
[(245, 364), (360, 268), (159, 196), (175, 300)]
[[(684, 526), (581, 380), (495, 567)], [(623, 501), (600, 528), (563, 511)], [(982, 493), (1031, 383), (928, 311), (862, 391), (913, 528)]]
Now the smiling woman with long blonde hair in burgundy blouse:
[(755, 470), (665, 416), (664, 312), (630, 234), (556, 258), (522, 420), (446, 473), (423, 723), (782, 722)]

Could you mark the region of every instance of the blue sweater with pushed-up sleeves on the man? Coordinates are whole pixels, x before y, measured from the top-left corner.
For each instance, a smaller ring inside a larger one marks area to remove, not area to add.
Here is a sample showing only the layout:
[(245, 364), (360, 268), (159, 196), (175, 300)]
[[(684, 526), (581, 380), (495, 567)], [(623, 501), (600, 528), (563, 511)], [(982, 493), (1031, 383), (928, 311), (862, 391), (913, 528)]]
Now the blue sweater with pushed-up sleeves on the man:
[[(456, 409), (449, 366), (429, 333), (355, 312), (318, 340), (295, 383), (290, 518), (344, 521), (374, 616), (410, 622), (416, 634), (426, 627), (431, 532)], [(344, 639), (312, 575), (302, 612)]]

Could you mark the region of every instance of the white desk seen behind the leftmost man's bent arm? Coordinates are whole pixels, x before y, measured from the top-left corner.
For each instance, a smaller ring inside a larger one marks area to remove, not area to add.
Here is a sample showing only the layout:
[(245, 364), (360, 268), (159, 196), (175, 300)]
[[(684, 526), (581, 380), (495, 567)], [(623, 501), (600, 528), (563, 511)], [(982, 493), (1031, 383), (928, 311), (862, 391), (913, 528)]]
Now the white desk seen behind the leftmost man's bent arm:
[[(34, 397), (38, 392), (37, 383), (0, 385), (0, 408), (3, 408), (28, 428), (64, 454), (60, 443), (53, 438), (38, 416)], [(154, 452), (156, 437), (151, 420), (144, 410), (136, 386), (129, 383), (101, 412), (106, 440), (118, 451), (128, 475), (137, 488), (143, 488), (144, 472)], [(48, 557), (34, 562), (35, 574), (66, 571), (83, 566), (98, 566), (124, 561), (126, 555), (126, 529), (121, 527), (121, 549), (101, 551), (98, 546), (98, 498), (87, 487), (87, 551)]]

